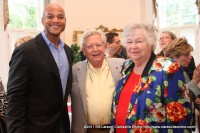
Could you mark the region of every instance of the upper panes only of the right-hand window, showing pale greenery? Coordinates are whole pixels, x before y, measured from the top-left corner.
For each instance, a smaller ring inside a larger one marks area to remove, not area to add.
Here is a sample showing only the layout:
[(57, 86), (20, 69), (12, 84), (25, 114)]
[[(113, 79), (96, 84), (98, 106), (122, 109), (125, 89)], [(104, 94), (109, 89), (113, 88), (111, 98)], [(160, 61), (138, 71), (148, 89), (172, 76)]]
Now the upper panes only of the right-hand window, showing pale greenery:
[(198, 23), (196, 0), (157, 0), (160, 28)]

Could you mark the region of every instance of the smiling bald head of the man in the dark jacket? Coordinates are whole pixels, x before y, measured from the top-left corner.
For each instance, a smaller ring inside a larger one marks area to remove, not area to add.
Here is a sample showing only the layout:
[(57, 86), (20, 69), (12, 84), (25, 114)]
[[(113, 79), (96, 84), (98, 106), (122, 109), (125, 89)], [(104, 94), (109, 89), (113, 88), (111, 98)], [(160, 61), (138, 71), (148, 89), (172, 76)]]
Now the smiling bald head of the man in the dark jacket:
[(60, 33), (65, 30), (66, 18), (64, 10), (57, 4), (48, 5), (42, 17), (47, 37), (60, 36)]

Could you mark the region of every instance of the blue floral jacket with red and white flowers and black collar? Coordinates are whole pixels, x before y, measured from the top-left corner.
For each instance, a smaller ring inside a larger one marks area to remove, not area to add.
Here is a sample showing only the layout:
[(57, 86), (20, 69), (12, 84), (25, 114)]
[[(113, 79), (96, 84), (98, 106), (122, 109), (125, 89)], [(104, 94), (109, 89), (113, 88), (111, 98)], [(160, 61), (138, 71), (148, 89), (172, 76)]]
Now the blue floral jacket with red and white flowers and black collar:
[[(111, 124), (116, 128), (116, 111), (120, 93), (134, 63), (127, 60), (121, 80), (114, 92)], [(186, 89), (183, 68), (167, 57), (153, 53), (142, 73), (141, 84), (132, 92), (127, 109), (128, 133), (188, 133), (191, 132), (192, 112), (189, 91)]]

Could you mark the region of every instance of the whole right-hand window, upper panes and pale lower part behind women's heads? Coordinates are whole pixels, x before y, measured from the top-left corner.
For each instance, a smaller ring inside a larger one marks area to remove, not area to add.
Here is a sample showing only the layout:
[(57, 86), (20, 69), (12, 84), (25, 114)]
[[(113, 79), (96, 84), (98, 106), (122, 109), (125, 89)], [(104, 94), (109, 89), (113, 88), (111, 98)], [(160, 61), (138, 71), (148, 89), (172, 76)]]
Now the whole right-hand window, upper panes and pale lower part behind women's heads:
[[(195, 63), (200, 63), (198, 9), (196, 0), (157, 0), (158, 29), (172, 31), (177, 37), (185, 37), (194, 48)], [(159, 34), (160, 35), (160, 34)], [(160, 51), (157, 46), (156, 53)]]

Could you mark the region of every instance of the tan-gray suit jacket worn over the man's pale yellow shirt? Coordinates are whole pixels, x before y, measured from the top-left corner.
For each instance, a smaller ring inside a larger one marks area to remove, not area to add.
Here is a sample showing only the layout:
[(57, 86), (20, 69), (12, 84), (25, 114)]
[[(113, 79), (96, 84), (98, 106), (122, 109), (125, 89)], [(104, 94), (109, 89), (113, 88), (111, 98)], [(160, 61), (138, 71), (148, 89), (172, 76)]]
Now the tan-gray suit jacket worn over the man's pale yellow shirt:
[[(115, 85), (117, 86), (120, 79), (120, 70), (124, 59), (106, 58), (113, 76)], [(86, 110), (86, 74), (87, 60), (78, 62), (73, 66), (73, 82), (71, 90), (72, 101), (72, 133), (86, 133), (85, 125), (87, 125)], [(105, 99), (106, 100), (106, 99)]]

